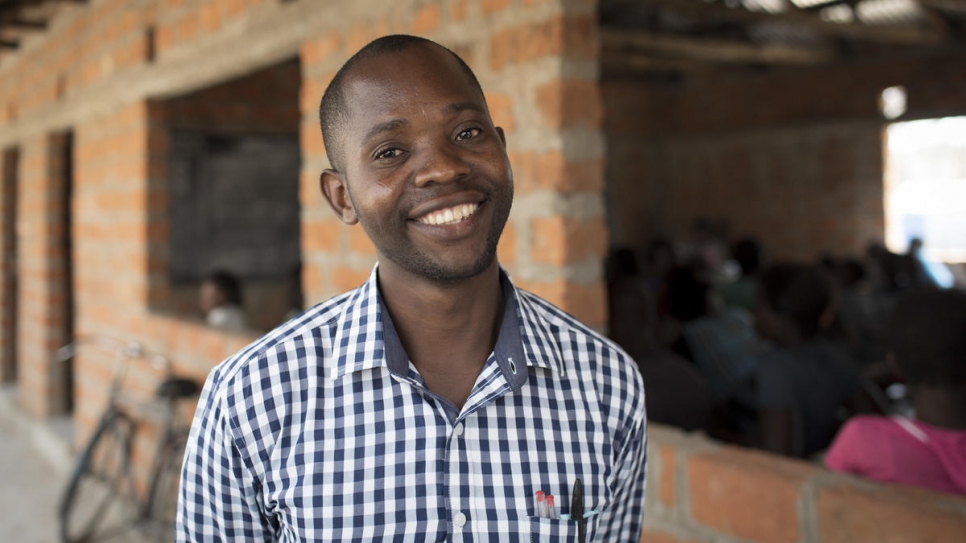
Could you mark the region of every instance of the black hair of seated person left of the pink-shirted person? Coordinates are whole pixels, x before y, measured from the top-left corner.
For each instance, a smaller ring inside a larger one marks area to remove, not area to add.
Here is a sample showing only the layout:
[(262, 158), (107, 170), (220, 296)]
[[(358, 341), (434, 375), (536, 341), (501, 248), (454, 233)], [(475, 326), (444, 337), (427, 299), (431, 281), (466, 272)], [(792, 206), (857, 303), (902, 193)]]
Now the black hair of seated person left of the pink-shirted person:
[(765, 268), (758, 278), (758, 292), (778, 315), (790, 320), (802, 339), (821, 330), (822, 315), (832, 304), (832, 280), (818, 266), (782, 262)]

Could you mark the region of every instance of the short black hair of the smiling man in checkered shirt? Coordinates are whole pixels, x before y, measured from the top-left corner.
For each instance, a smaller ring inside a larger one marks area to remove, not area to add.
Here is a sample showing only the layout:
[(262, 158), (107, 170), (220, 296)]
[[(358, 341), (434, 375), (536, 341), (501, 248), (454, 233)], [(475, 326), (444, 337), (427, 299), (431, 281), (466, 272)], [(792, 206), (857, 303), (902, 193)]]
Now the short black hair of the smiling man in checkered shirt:
[(346, 118), (348, 117), (348, 107), (346, 106), (345, 82), (353, 65), (359, 60), (376, 57), (385, 53), (397, 53), (417, 45), (434, 45), (453, 55), (462, 68), (463, 73), (470, 80), (476, 90), (483, 97), (483, 107), (486, 107), (486, 98), (483, 94), (483, 87), (473, 70), (460, 58), (459, 55), (450, 49), (426, 38), (410, 36), (407, 34), (393, 34), (383, 36), (369, 42), (356, 54), (349, 57), (349, 60), (339, 68), (335, 77), (325, 89), (322, 100), (319, 102), (319, 125), (322, 128), (322, 141), (325, 144), (325, 154), (329, 157), (332, 168), (343, 171), (343, 136), (345, 131)]

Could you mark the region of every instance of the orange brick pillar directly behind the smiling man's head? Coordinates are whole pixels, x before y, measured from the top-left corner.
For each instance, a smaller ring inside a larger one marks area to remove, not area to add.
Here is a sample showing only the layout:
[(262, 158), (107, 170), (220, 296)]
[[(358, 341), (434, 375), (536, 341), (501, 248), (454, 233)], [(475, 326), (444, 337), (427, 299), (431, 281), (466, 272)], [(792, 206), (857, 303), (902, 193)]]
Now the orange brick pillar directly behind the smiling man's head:
[[(374, 7), (375, 7), (375, 3)], [(317, 302), (357, 286), (375, 252), (318, 195), (327, 167), (317, 108), (332, 76), (369, 40), (409, 33), (456, 51), (507, 134), (516, 200), (499, 247), (516, 283), (582, 321), (606, 322), (602, 260), (604, 138), (596, 2), (401, 1), (340, 21), (302, 46), (304, 285)]]

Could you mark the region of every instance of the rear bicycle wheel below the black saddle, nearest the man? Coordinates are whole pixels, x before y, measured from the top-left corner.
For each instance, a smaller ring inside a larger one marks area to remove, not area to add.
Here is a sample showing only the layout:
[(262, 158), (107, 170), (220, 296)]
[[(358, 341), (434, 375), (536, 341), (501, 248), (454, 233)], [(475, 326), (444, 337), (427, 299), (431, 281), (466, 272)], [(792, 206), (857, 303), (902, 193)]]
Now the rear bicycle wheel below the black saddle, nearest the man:
[(178, 493), (181, 488), (181, 464), (188, 436), (174, 436), (165, 445), (157, 471), (151, 483), (147, 502), (146, 528), (158, 543), (171, 543), (175, 536), (178, 514)]

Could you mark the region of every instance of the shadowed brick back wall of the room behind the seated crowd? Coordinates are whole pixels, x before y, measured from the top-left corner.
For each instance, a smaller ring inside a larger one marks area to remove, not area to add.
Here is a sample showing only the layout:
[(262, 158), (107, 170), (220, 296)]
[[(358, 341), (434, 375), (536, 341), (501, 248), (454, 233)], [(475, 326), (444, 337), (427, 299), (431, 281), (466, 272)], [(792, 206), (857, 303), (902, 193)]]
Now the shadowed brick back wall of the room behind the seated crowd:
[(770, 256), (856, 253), (882, 241), (882, 89), (903, 85), (903, 119), (961, 115), (966, 55), (603, 85), (608, 210), (616, 243), (683, 237), (725, 217)]

